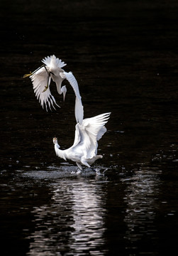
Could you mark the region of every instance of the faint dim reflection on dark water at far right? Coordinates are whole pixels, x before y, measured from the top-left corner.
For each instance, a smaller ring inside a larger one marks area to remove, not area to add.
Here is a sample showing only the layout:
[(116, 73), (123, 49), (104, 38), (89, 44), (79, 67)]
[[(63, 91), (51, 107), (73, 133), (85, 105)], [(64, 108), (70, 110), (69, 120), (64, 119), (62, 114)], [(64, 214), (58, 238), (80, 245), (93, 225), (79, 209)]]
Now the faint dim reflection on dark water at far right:
[[(127, 225), (126, 240), (128, 240), (128, 249), (137, 247), (137, 242), (147, 237), (151, 240), (157, 239), (157, 230), (155, 228), (155, 210), (157, 210), (157, 199), (159, 194), (161, 173), (159, 169), (140, 168), (135, 171), (132, 178), (123, 179), (128, 183), (126, 188), (127, 203), (126, 216), (124, 221)], [(148, 247), (145, 246), (145, 250)], [(150, 245), (151, 250), (151, 245)]]

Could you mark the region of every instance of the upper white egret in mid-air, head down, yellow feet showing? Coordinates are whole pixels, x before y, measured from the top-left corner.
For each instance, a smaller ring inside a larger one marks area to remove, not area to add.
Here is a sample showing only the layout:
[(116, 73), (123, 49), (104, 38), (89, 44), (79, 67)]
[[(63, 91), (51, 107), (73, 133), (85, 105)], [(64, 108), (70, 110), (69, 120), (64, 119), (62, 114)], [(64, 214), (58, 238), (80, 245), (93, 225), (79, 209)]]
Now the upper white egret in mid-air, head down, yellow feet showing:
[[(44, 63), (40, 68), (37, 68), (33, 73), (23, 75), (23, 78), (30, 77), (33, 82), (33, 90), (35, 92), (35, 96), (40, 102), (40, 105), (48, 111), (48, 107), (51, 110), (51, 106), (55, 109), (55, 105), (57, 105), (55, 101), (55, 97), (52, 96), (50, 92), (50, 82), (51, 78), (56, 83), (57, 92), (61, 95), (63, 93), (63, 100), (65, 100), (65, 94), (67, 92), (66, 86), (62, 86), (62, 81), (67, 79), (69, 84), (72, 86), (74, 93), (76, 95), (75, 98), (75, 118), (76, 121), (82, 124), (82, 120), (84, 117), (84, 110), (82, 106), (82, 98), (79, 94), (79, 86), (77, 80), (74, 78), (72, 72), (65, 72), (62, 68), (67, 65), (59, 58), (56, 58), (55, 55), (51, 55), (50, 57), (45, 57), (42, 62)], [(57, 107), (60, 107), (57, 105)]]

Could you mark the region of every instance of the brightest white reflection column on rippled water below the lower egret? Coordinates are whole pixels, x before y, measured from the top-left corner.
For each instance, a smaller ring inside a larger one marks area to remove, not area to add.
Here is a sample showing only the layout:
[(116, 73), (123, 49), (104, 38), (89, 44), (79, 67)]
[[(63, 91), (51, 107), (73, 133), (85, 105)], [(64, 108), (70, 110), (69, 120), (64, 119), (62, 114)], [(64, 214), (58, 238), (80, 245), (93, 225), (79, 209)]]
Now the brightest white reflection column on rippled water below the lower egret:
[[(72, 236), (77, 252), (81, 249), (78, 245), (84, 241), (87, 247), (95, 249), (104, 244), (104, 208), (101, 208), (101, 191), (96, 193), (94, 185), (86, 186), (88, 184), (82, 183), (82, 186), (73, 188), (73, 212), (74, 212), (74, 232)], [(101, 252), (98, 252), (102, 255)]]

